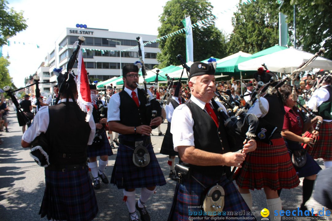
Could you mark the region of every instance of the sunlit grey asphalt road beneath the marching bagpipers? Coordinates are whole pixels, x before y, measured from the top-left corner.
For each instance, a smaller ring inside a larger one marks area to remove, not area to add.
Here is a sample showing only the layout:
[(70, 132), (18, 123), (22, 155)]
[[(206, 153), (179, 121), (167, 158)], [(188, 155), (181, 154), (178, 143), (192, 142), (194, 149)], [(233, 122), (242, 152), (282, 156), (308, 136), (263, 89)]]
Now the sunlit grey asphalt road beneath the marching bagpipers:
[[(16, 114), (12, 110), (8, 116), (9, 133), (1, 132), (0, 138), (3, 143), (0, 145), (0, 220), (41, 220), (38, 215), (41, 199), (44, 192), (44, 169), (38, 166), (30, 157), (29, 150), (21, 147), (22, 128), (17, 123)], [(161, 130), (166, 131), (167, 123), (161, 125)], [(172, 198), (175, 189), (175, 181), (168, 178), (169, 169), (167, 156), (159, 153), (163, 136), (158, 136), (158, 131), (153, 131), (151, 136), (154, 151), (160, 167), (165, 175), (167, 184), (157, 187), (156, 193), (147, 202), (147, 210), (151, 220), (167, 220), (170, 211)], [(109, 157), (109, 163), (105, 174), (111, 178), (113, 165), (117, 155), (117, 149), (113, 150), (114, 155)], [(317, 160), (324, 169), (323, 161)], [(284, 210), (297, 209), (302, 201), (302, 180), (300, 186), (283, 190), (281, 199)], [(94, 219), (96, 221), (122, 221), (128, 220), (128, 210), (122, 201), (123, 192), (116, 186), (101, 183), (100, 190), (96, 190), (99, 213)], [(261, 220), (260, 212), (266, 208), (266, 198), (263, 190), (251, 191), (253, 197), (253, 211), (257, 220)], [(140, 190), (136, 190), (136, 199), (139, 198)], [(323, 206), (317, 203), (312, 197), (307, 202), (308, 208), (315, 211), (322, 210)], [(326, 208), (325, 208), (326, 211)], [(325, 217), (327, 220), (332, 220)], [(42, 220), (47, 220), (43, 218)]]

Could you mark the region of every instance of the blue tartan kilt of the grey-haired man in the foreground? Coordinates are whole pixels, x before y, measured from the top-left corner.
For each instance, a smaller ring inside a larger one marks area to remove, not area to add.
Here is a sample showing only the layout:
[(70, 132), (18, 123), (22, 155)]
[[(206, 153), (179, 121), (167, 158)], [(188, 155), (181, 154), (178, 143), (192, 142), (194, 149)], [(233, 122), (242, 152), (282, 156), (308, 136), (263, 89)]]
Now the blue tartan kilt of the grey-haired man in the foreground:
[[(206, 187), (211, 185), (219, 184), (225, 190), (225, 205), (223, 208), (224, 212), (227, 211), (245, 211), (245, 213), (250, 213), (250, 209), (245, 203), (239, 191), (236, 189), (232, 181), (229, 181), (226, 175), (221, 177), (209, 177), (202, 173), (192, 172), (197, 180), (204, 184)], [(201, 194), (204, 192), (204, 187), (199, 184), (196, 180), (184, 179), (182, 184), (177, 183), (175, 194), (173, 198), (173, 205), (171, 212), (169, 214), (169, 221), (184, 221), (184, 220), (196, 220), (197, 217), (202, 217), (203, 220), (212, 220), (211, 217), (207, 215), (192, 215), (200, 214), (199, 212), (204, 212), (203, 208), (193, 208), (194, 206), (201, 206)], [(195, 212), (195, 213), (194, 213)], [(189, 215), (191, 214), (191, 215)], [(240, 214), (240, 213), (239, 213)], [(224, 217), (238, 217), (236, 220), (247, 220), (249, 217), (253, 217), (250, 220), (256, 220), (254, 215), (220, 215)], [(189, 217), (193, 218), (190, 219)], [(240, 217), (244, 217), (241, 219)], [(215, 217), (214, 217), (215, 218)], [(214, 219), (213, 219), (214, 220)]]

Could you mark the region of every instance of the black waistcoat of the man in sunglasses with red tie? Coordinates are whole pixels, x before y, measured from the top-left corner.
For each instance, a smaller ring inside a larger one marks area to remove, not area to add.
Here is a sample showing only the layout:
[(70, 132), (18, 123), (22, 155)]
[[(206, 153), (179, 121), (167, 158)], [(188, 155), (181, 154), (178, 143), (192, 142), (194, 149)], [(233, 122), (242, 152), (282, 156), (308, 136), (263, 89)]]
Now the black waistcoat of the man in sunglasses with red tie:
[[(129, 96), (127, 92), (122, 90), (120, 96), (120, 123), (128, 127), (138, 127), (140, 125), (149, 125), (150, 122), (146, 120), (146, 97), (141, 90), (137, 90), (138, 100), (140, 102), (137, 107), (135, 101)], [(134, 135), (134, 134), (133, 134)], [(141, 137), (140, 134), (136, 136)]]

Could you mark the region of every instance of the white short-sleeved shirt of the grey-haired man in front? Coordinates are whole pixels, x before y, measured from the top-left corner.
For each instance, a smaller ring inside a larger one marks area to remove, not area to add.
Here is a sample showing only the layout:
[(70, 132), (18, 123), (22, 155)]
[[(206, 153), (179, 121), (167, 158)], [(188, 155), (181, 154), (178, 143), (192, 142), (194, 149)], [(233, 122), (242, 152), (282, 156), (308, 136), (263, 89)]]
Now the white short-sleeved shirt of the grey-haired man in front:
[[(197, 104), (202, 110), (205, 110), (205, 102), (191, 96), (190, 100)], [(211, 101), (209, 101), (211, 107)], [(220, 102), (216, 102), (226, 113), (226, 108)], [(189, 107), (181, 104), (175, 108), (171, 121), (171, 133), (173, 135), (174, 150), (178, 151), (178, 146), (195, 146), (194, 144), (194, 119)]]

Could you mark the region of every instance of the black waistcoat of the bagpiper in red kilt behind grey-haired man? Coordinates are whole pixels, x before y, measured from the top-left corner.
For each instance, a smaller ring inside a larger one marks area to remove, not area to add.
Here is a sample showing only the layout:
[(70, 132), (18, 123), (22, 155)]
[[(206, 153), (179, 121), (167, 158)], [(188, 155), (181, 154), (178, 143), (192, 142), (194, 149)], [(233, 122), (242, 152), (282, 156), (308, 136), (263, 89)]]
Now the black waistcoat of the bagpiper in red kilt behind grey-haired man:
[(281, 138), (281, 130), (284, 125), (285, 108), (280, 93), (277, 93), (278, 95), (267, 94), (264, 96), (269, 102), (269, 111), (264, 117), (262, 117), (262, 119), (277, 127), (277, 130), (273, 133), (271, 139)]

